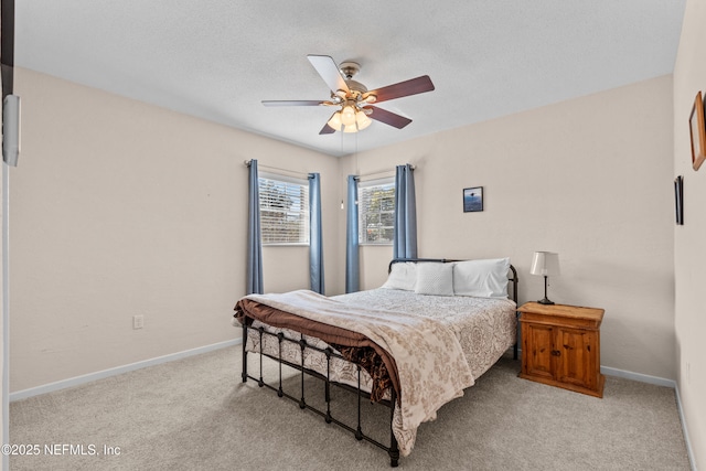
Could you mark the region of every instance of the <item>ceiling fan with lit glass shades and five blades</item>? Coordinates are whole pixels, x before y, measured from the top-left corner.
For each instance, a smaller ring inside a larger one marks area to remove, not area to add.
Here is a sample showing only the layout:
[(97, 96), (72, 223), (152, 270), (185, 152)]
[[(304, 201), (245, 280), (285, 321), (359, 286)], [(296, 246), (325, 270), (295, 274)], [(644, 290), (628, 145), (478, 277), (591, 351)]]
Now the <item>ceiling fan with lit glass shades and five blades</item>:
[(373, 104), (434, 90), (434, 84), (429, 76), (422, 75), (368, 92), (365, 85), (353, 79), (361, 69), (357, 63), (347, 61), (338, 66), (335, 61), (328, 55), (309, 54), (307, 57), (331, 89), (331, 99), (263, 100), (263, 105), (338, 107), (339, 109), (319, 131), (320, 135), (330, 135), (335, 131), (357, 132), (371, 125), (371, 118), (402, 129), (410, 124), (411, 119), (378, 108)]

